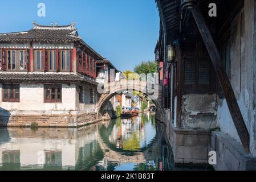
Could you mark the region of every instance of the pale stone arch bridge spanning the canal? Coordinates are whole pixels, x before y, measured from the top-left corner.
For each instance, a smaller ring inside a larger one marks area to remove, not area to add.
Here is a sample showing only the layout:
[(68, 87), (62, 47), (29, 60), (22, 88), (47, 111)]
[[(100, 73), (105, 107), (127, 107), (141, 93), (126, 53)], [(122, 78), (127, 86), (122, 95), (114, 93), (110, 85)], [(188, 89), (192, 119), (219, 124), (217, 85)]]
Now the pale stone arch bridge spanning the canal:
[[(159, 86), (157, 85), (155, 89), (155, 92), (149, 93), (148, 89), (146, 87), (147, 82), (143, 82), (143, 81), (127, 81), (127, 80), (122, 80), (122, 81), (118, 81), (115, 82), (115, 84), (110, 84), (108, 86), (108, 93), (103, 93), (101, 94), (100, 98), (99, 98), (99, 102), (97, 104), (97, 119), (101, 119), (102, 114), (103, 114), (103, 110), (105, 105), (107, 105), (107, 102), (115, 95), (117, 95), (118, 93), (124, 92), (125, 90), (134, 90), (135, 92), (141, 92), (143, 94), (145, 94), (146, 96), (148, 96), (153, 104), (155, 104), (156, 106), (156, 119), (159, 121), (163, 121), (164, 119), (164, 112), (162, 111), (162, 107), (161, 107), (161, 103), (159, 101)], [(157, 92), (157, 93), (156, 93)], [(156, 94), (158, 97), (156, 97)]]

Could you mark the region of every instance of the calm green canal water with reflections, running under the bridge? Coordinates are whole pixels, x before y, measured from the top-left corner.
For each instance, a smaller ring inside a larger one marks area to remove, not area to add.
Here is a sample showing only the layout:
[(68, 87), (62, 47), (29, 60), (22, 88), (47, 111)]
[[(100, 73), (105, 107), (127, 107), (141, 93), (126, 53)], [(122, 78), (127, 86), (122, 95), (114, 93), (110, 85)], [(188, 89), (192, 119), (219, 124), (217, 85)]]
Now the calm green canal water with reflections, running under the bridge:
[(0, 170), (193, 169), (174, 168), (164, 128), (151, 113), (80, 129), (0, 128)]

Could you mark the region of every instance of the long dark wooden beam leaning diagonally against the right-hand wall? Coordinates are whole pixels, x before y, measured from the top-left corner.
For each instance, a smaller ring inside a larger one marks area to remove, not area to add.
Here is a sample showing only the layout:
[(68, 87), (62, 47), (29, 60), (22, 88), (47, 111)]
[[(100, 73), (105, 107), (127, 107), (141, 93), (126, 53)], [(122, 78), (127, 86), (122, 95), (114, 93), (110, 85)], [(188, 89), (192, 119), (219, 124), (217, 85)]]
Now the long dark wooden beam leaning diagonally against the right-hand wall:
[(200, 9), (198, 9), (198, 7), (192, 9), (192, 14), (196, 20), (197, 27), (200, 31), (202, 39), (204, 40), (205, 46), (208, 49), (210, 59), (212, 60), (216, 75), (220, 81), (222, 91), (224, 92), (226, 98), (227, 106), (229, 107), (231, 117), (233, 119), (235, 128), (237, 129), (237, 133), (242, 142), (243, 148), (245, 149), (245, 152), (249, 154), (250, 135), (246, 128), (245, 122), (243, 121), (243, 117), (237, 104), (237, 99), (235, 98), (234, 90), (229, 81), (229, 77), (227, 77), (224, 66), (221, 63), (220, 53), (218, 52), (216, 44), (214, 43), (210, 30)]

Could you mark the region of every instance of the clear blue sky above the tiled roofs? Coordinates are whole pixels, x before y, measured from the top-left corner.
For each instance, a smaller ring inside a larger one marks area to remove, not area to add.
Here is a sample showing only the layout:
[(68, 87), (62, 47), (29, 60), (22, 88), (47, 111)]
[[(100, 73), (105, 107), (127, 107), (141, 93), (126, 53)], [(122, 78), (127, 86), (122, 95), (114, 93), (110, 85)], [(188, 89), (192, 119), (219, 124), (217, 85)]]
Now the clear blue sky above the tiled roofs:
[[(41, 2), (46, 17), (37, 16)], [(159, 36), (155, 0), (9, 0), (1, 1), (0, 15), (1, 33), (29, 30), (32, 21), (45, 25), (75, 21), (83, 40), (120, 71), (155, 58)]]

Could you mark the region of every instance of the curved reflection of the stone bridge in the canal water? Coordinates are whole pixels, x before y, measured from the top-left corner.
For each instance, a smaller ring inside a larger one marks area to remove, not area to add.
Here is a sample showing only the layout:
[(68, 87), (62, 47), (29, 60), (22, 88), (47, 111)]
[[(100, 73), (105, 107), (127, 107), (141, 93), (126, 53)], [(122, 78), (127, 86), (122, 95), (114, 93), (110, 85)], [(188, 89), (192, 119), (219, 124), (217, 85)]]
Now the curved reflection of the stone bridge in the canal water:
[(159, 126), (157, 127), (157, 130), (161, 131), (156, 132), (155, 138), (148, 146), (141, 148), (141, 150), (138, 151), (127, 152), (123, 149), (113, 147), (113, 145), (109, 146), (109, 144), (106, 144), (97, 127), (97, 142), (99, 143), (101, 150), (103, 150), (104, 166), (107, 166), (107, 162), (118, 163), (120, 165), (124, 163), (139, 164), (156, 160), (156, 156), (161, 156), (161, 148), (159, 146), (161, 145), (162, 134), (164, 133), (163, 127)]

